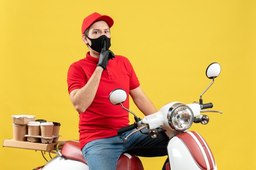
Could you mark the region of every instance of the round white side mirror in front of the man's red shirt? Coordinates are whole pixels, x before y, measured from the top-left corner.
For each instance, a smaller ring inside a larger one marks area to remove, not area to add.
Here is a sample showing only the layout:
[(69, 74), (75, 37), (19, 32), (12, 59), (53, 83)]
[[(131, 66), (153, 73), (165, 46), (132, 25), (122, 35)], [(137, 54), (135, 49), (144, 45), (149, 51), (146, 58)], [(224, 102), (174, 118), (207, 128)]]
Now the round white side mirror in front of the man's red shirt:
[(127, 98), (127, 94), (123, 89), (115, 89), (109, 94), (109, 101), (113, 105), (119, 105)]

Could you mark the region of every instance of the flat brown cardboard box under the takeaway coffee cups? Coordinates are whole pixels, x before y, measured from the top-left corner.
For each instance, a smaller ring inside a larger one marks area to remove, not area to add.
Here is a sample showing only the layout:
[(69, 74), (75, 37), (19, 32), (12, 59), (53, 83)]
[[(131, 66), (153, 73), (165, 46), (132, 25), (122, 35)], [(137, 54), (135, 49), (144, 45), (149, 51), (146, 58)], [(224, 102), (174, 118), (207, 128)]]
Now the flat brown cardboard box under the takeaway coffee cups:
[(66, 142), (67, 140), (61, 139), (58, 142), (54, 142), (51, 144), (42, 144), (37, 142), (24, 142), (24, 141), (14, 141), (13, 139), (4, 140), (3, 146), (12, 147), (12, 148), (23, 148), (23, 149), (33, 149), (33, 150), (43, 150), (43, 151), (51, 151), (55, 150), (54, 145), (59, 142)]

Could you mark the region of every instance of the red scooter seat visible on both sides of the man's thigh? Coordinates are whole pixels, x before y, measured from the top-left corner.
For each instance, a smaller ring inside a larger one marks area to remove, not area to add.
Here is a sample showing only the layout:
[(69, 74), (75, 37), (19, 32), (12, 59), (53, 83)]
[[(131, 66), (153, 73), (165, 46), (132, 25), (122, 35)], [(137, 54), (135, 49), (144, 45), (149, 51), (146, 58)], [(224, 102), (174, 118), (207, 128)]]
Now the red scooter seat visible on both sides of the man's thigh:
[[(67, 141), (62, 147), (61, 153), (66, 158), (75, 159), (87, 164), (83, 158), (82, 151), (79, 148), (79, 141)], [(123, 153), (118, 159), (117, 170), (144, 170), (144, 168), (136, 155)]]

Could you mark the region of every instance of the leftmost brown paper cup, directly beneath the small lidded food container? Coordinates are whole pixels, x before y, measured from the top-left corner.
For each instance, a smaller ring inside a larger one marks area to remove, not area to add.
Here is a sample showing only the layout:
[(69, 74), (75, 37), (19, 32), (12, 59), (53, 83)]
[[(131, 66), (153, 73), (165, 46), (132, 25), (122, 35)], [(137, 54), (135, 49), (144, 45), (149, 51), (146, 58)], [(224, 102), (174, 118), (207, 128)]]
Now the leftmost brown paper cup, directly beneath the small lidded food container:
[(13, 125), (13, 140), (27, 141), (27, 124), (12, 124)]

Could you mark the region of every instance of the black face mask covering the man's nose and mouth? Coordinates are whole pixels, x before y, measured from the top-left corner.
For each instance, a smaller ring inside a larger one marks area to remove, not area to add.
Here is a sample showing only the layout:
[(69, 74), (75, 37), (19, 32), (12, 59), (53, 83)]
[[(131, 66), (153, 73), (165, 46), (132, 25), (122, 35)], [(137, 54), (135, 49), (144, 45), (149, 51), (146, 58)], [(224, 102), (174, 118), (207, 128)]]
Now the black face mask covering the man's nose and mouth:
[(92, 48), (92, 50), (97, 51), (99, 53), (101, 53), (104, 41), (106, 42), (106, 49), (105, 50), (108, 50), (110, 48), (110, 46), (111, 46), (110, 38), (108, 38), (106, 35), (101, 35), (100, 37), (98, 37), (96, 39), (91, 39), (87, 35), (86, 35), (86, 37), (88, 39), (90, 39), (90, 41), (92, 42), (92, 45), (90, 46), (88, 44), (88, 46), (90, 46), (90, 48)]

